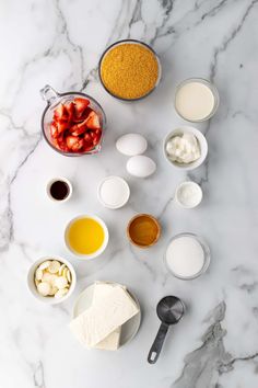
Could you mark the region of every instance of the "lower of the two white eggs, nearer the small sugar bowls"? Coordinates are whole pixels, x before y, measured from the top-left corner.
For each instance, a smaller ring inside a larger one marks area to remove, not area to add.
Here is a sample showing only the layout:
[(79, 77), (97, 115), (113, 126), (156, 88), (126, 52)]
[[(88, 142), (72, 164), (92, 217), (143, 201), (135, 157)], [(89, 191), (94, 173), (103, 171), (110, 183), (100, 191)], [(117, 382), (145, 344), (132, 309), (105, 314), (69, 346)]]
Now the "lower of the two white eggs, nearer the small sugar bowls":
[(127, 162), (127, 171), (134, 176), (146, 178), (153, 174), (155, 170), (156, 163), (143, 155), (131, 157)]

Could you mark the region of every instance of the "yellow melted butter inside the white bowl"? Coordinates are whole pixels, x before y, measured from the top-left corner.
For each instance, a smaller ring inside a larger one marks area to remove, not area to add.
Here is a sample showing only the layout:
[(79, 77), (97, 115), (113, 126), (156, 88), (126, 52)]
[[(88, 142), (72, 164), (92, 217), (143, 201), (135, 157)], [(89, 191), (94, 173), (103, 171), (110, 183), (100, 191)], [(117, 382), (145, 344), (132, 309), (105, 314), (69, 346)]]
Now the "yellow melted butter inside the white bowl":
[(95, 253), (104, 243), (103, 227), (92, 218), (80, 218), (68, 230), (70, 247), (80, 254)]

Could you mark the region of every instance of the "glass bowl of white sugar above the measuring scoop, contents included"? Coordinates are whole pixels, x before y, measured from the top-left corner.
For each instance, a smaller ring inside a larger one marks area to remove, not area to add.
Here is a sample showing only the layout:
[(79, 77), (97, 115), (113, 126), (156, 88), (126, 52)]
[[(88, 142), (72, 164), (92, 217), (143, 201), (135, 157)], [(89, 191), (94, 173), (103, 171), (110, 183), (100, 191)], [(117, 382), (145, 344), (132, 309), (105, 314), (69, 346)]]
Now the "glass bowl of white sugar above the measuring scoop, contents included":
[(169, 241), (164, 263), (175, 277), (190, 281), (199, 277), (209, 267), (210, 249), (201, 237), (180, 233)]

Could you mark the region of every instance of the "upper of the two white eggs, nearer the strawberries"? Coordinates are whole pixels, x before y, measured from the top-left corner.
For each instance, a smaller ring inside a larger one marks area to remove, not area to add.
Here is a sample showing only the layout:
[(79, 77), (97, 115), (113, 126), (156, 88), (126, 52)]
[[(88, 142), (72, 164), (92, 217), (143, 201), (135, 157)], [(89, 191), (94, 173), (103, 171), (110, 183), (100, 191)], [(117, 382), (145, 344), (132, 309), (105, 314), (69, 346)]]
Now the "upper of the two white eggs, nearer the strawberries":
[(146, 139), (139, 134), (127, 134), (116, 142), (117, 150), (128, 157), (134, 157), (145, 152), (148, 142)]

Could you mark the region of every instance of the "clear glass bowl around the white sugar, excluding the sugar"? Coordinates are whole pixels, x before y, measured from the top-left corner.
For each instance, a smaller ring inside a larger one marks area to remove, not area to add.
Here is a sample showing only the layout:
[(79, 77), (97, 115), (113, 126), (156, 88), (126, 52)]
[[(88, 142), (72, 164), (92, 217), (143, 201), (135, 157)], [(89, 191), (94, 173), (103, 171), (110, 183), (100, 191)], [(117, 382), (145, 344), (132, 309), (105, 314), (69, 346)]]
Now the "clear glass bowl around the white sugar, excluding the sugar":
[[(201, 246), (201, 248), (202, 248), (202, 250), (203, 250), (203, 254), (204, 254), (203, 265), (202, 265), (201, 270), (200, 270), (198, 273), (196, 273), (195, 275), (192, 275), (192, 276), (180, 276), (180, 275), (176, 274), (175, 272), (173, 272), (172, 269), (171, 269), (171, 267), (168, 266), (168, 264), (167, 264), (166, 252), (167, 252), (168, 247), (171, 246), (172, 241), (174, 241), (174, 240), (176, 240), (176, 239), (178, 239), (178, 238), (181, 238), (181, 237), (191, 237), (191, 238), (196, 239), (196, 240), (200, 243), (200, 246)], [(165, 254), (164, 254), (164, 256), (163, 256), (163, 262), (164, 262), (164, 265), (165, 265), (166, 270), (167, 270), (173, 276), (175, 276), (175, 277), (177, 277), (177, 278), (180, 278), (180, 279), (183, 279), (183, 281), (191, 281), (191, 279), (194, 279), (194, 278), (199, 277), (199, 276), (202, 275), (203, 273), (206, 273), (207, 270), (208, 270), (208, 267), (209, 267), (209, 265), (210, 265), (210, 261), (211, 261), (210, 248), (208, 247), (208, 244), (206, 243), (206, 241), (204, 241), (200, 236), (197, 236), (197, 235), (195, 235), (195, 233), (189, 233), (189, 232), (179, 233), (179, 235), (174, 236), (174, 237), (169, 240), (169, 242), (168, 242), (168, 244), (167, 244), (167, 247), (166, 247)]]

